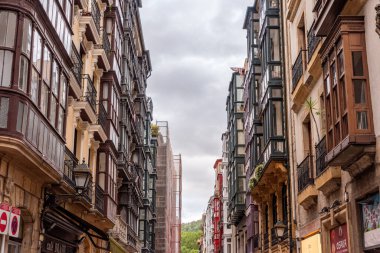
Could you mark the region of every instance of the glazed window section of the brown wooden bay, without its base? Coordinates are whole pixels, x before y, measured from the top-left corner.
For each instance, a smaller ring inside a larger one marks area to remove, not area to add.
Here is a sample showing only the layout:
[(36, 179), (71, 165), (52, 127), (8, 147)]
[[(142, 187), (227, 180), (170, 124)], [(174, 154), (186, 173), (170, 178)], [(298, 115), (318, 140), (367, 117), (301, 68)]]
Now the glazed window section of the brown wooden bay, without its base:
[(336, 37), (322, 54), (328, 151), (350, 134), (373, 131), (364, 33)]

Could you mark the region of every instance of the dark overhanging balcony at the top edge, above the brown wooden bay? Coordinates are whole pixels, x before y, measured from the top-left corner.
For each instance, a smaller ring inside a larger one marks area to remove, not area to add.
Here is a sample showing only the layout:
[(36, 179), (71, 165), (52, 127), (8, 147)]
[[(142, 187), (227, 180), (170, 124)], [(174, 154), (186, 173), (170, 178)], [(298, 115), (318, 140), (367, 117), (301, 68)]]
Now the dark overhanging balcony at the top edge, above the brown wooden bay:
[(313, 11), (317, 14), (315, 34), (327, 36), (347, 0), (317, 0)]

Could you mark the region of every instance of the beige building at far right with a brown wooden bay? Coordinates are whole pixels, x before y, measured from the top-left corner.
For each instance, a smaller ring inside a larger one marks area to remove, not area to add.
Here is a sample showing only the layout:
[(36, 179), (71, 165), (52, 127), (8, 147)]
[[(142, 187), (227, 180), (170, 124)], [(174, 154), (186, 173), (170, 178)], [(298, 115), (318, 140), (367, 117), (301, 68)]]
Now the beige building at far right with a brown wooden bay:
[(379, 4), (283, 1), (301, 252), (380, 250)]

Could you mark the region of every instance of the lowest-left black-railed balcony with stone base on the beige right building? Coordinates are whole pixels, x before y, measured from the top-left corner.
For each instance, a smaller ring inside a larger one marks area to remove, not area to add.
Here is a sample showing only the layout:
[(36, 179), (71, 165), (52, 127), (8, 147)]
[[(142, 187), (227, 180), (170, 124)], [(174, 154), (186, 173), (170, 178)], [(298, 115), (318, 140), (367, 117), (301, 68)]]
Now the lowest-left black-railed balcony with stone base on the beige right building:
[(315, 205), (318, 197), (314, 179), (310, 177), (311, 160), (311, 156), (308, 155), (297, 167), (298, 203), (305, 209)]

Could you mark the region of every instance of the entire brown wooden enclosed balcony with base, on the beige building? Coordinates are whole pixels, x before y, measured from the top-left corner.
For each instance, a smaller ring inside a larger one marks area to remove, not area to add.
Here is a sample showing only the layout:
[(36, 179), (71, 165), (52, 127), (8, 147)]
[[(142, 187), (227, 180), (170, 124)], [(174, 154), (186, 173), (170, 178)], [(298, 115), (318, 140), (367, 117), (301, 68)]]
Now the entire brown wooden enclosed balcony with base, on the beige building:
[[(348, 5), (351, 2), (353, 1)], [(357, 4), (361, 2), (358, 0)], [(349, 43), (339, 45), (339, 41)], [(357, 42), (355, 47), (350, 44), (354, 41)], [(334, 62), (330, 58), (334, 52), (345, 57)], [(331, 112), (326, 120), (326, 162), (329, 166), (341, 166), (355, 177), (374, 164), (376, 153), (364, 17), (339, 16), (320, 53), (324, 64), (330, 64), (325, 65), (325, 75), (335, 76), (335, 81), (329, 82), (326, 87), (330, 93), (325, 92), (326, 110)], [(331, 70), (331, 67), (327, 68), (331, 64), (337, 64), (336, 68), (344, 74), (342, 78), (337, 78), (337, 72)], [(337, 96), (338, 89), (344, 90), (345, 95)], [(334, 100), (343, 106), (340, 111), (333, 103)]]

